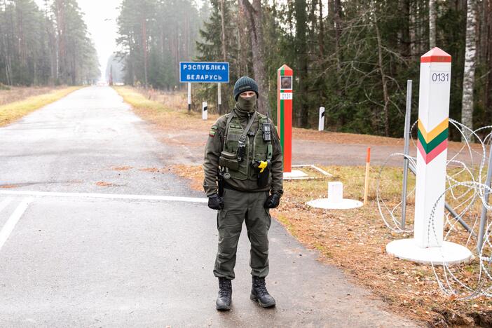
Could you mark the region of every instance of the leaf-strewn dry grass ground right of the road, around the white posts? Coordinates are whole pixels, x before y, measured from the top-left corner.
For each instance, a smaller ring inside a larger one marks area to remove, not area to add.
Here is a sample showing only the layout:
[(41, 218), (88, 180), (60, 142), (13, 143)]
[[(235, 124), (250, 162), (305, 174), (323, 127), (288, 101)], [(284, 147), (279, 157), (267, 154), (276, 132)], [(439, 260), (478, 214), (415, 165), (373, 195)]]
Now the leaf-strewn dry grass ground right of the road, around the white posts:
[[(363, 167), (324, 167), (332, 180), (343, 182), (344, 197), (362, 199)], [(172, 172), (191, 179), (191, 187), (202, 190), (203, 170), (200, 166), (176, 165)], [(369, 204), (356, 210), (319, 210), (306, 202), (326, 198), (327, 180), (285, 182), (285, 196), (273, 216), (304, 245), (317, 249), (320, 261), (342, 268), (357, 284), (380, 296), (395, 313), (439, 326), (473, 325), (491, 322), (492, 303), (485, 298), (460, 301), (445, 296), (439, 289), (432, 267), (401, 261), (385, 252), (388, 242), (411, 238), (392, 233), (383, 224), (375, 201), (376, 177), (379, 168), (371, 169)], [(385, 169), (381, 187), (388, 203), (399, 201), (402, 170)], [(414, 179), (410, 184), (414, 184)], [(409, 200), (407, 215), (412, 224), (414, 201)], [(453, 240), (464, 242), (467, 233), (458, 229)], [(466, 280), (477, 269), (477, 261), (457, 266), (455, 271)], [(487, 321), (489, 320), (489, 321)]]

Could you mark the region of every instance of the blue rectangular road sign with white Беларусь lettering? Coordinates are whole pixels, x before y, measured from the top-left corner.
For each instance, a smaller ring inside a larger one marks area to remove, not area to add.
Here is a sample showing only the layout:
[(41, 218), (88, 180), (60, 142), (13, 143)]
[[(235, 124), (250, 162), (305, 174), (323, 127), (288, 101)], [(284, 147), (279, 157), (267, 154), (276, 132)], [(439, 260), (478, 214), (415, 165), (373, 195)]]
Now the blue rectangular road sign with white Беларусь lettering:
[(228, 62), (179, 62), (179, 82), (228, 83)]

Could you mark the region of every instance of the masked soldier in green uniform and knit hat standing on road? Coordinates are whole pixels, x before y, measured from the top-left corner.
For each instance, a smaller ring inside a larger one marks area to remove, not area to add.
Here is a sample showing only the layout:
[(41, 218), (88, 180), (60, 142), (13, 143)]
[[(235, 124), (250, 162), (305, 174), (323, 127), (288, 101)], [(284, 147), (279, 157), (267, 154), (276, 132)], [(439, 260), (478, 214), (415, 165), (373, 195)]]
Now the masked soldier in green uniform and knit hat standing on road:
[(268, 294), (269, 210), (282, 196), (282, 149), (273, 122), (257, 109), (258, 86), (247, 76), (234, 85), (235, 107), (212, 125), (205, 148), (203, 188), (208, 207), (219, 210), (219, 247), (214, 275), (219, 278), (217, 310), (231, 308), (235, 254), (245, 221), (251, 242), (250, 298), (264, 308), (275, 306)]

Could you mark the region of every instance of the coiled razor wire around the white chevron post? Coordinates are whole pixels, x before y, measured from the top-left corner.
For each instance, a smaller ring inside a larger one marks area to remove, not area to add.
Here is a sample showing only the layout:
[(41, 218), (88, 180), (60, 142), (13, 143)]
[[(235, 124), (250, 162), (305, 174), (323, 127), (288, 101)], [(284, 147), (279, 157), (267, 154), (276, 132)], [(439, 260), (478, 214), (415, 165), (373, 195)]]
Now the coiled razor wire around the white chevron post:
[[(486, 163), (488, 163), (487, 145), (492, 142), (492, 125), (487, 125), (477, 130), (471, 130), (460, 122), (449, 119), (450, 127), (459, 132), (463, 146), (446, 160), (446, 189), (432, 207), (428, 225), (428, 238), (431, 236), (439, 240), (440, 227), (435, 226), (435, 214), (437, 205), (445, 199), (446, 203), (457, 214), (455, 217), (451, 212), (444, 214), (444, 242), (453, 241), (464, 245), (472, 251), (474, 257), (465, 264), (446, 264), (442, 253), (442, 263), (432, 263), (432, 272), (437, 284), (446, 295), (456, 296), (458, 299), (474, 299), (479, 296), (492, 296), (492, 220), (486, 217), (484, 228), (484, 239), (479, 247), (479, 226), (481, 210), (492, 210), (488, 203), (488, 193), (492, 194), (491, 186), (487, 186)], [(411, 125), (411, 132), (416, 128), (417, 122)], [(413, 135), (410, 133), (410, 135)], [(480, 135), (484, 135), (483, 138)], [(470, 142), (474, 140), (474, 144)], [(416, 148), (416, 139), (411, 138)], [(382, 182), (388, 161), (397, 157), (407, 159), (409, 168), (416, 172), (416, 158), (404, 153), (392, 153), (385, 160), (379, 170), (376, 183), (376, 203), (378, 211), (385, 226), (395, 233), (412, 233), (413, 226), (406, 224), (402, 227), (402, 200), (396, 205), (390, 205), (382, 195)], [(485, 171), (484, 171), (485, 170)], [(406, 193), (406, 200), (415, 194), (415, 186)], [(465, 222), (470, 231), (460, 228), (460, 220)]]

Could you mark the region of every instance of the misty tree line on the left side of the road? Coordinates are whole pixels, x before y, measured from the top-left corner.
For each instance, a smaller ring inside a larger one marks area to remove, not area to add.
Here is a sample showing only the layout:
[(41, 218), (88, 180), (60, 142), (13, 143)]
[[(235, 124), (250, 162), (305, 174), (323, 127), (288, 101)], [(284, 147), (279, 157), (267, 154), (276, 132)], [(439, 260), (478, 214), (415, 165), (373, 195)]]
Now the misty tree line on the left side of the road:
[(76, 0), (0, 0), (0, 84), (93, 83), (97, 53)]

